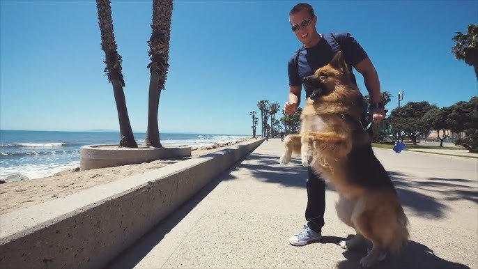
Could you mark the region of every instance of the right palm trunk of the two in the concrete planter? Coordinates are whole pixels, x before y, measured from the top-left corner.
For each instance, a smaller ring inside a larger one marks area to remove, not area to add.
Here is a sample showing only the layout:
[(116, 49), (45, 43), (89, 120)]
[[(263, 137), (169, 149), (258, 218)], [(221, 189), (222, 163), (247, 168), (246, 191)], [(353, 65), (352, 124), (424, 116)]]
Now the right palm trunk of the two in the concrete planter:
[(144, 144), (161, 148), (160, 128), (157, 123), (157, 112), (160, 106), (161, 90), (164, 89), (169, 68), (169, 34), (171, 33), (171, 15), (173, 0), (153, 1), (153, 24), (151, 38), (148, 41), (148, 55), (151, 63), (148, 65), (151, 77), (149, 79), (148, 129)]

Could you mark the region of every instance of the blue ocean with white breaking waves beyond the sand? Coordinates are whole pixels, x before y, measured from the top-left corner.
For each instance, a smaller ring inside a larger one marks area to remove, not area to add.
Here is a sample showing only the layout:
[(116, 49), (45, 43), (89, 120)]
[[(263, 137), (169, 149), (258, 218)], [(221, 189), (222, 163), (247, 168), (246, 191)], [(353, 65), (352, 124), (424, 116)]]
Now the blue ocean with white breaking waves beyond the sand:
[[(118, 132), (50, 132), (0, 130), (0, 179), (22, 174), (30, 179), (53, 176), (79, 167), (84, 145), (118, 144)], [(138, 144), (146, 133), (134, 133)], [(236, 141), (247, 135), (160, 133), (161, 144), (207, 146)]]

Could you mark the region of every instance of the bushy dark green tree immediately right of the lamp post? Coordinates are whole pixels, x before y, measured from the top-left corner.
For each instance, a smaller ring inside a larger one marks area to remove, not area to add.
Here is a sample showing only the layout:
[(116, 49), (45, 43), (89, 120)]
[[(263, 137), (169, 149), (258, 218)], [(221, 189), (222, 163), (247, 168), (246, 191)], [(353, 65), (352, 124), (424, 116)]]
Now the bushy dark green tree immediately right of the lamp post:
[(399, 137), (405, 134), (413, 141), (413, 144), (416, 145), (417, 137), (429, 132), (429, 128), (427, 128), (422, 121), (422, 117), (429, 109), (431, 109), (429, 102), (408, 102), (408, 104), (403, 107), (394, 109), (388, 121), (395, 130), (401, 132)]

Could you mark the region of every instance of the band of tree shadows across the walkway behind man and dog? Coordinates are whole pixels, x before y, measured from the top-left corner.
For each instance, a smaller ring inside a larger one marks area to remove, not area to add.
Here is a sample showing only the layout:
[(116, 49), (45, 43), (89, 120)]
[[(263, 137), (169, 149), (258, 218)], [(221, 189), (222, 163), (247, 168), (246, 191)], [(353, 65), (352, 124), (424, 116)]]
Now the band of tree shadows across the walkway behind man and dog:
[[(304, 187), (307, 179), (307, 168), (302, 167), (299, 157), (293, 157), (286, 165), (279, 164), (277, 155), (252, 153), (247, 160), (254, 163), (241, 163), (237, 168), (249, 169), (257, 180), (282, 184), (286, 187)], [(394, 182), (403, 206), (419, 215), (442, 218), (449, 210), (447, 201), (459, 199), (478, 203), (478, 192), (470, 190), (473, 180), (461, 178), (424, 178), (415, 180), (416, 176), (396, 171), (388, 171)], [(470, 185), (466, 185), (466, 184)], [(327, 184), (327, 190), (334, 190)], [(426, 192), (433, 193), (433, 196)], [(438, 195), (438, 198), (434, 194)], [(305, 195), (305, 194), (304, 194)], [(443, 197), (440, 197), (443, 196)]]

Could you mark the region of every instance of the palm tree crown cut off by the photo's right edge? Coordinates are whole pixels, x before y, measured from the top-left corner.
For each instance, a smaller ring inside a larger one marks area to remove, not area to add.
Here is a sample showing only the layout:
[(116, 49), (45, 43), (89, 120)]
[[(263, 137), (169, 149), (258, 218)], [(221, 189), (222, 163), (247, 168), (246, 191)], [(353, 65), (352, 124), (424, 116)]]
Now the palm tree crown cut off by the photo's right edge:
[(468, 33), (456, 32), (452, 39), (456, 42), (452, 47), (455, 58), (473, 66), (478, 79), (478, 24), (468, 25)]

